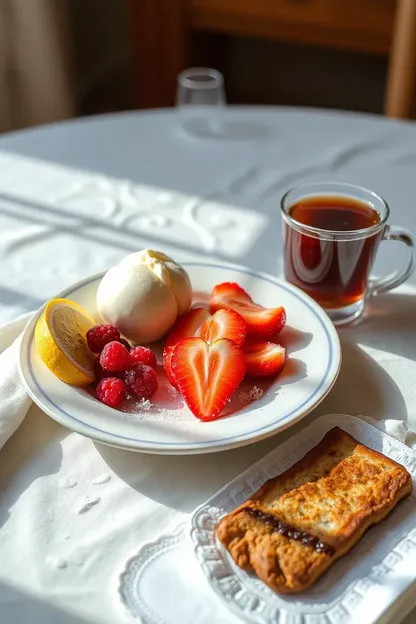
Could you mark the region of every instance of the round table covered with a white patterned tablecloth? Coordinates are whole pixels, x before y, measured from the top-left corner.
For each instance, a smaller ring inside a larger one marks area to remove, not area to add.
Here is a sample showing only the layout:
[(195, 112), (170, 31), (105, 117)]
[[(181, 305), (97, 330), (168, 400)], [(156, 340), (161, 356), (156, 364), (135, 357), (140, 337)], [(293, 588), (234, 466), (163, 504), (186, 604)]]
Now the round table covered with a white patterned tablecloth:
[[(302, 182), (369, 187), (391, 223), (416, 231), (413, 123), (263, 107), (231, 107), (224, 120), (219, 136), (188, 134), (167, 110), (1, 137), (0, 322), (142, 247), (280, 274), (279, 200)], [(389, 248), (377, 273), (400, 262)], [(340, 331), (339, 380), (305, 421), (366, 414), (416, 431), (415, 319), (416, 274)], [(3, 332), (3, 348), (19, 327)], [(5, 621), (129, 621), (117, 595), (128, 558), (292, 431), (215, 456), (146, 456), (94, 444), (33, 406), (0, 451)]]

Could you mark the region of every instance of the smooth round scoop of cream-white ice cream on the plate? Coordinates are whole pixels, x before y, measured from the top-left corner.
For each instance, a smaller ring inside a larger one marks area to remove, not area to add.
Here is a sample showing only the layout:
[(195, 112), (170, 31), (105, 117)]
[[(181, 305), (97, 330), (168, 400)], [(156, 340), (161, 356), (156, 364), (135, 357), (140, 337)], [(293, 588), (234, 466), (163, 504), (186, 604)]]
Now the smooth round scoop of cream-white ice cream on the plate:
[(97, 290), (97, 308), (132, 342), (153, 342), (172, 327), (192, 301), (186, 271), (165, 254), (145, 249), (107, 271)]

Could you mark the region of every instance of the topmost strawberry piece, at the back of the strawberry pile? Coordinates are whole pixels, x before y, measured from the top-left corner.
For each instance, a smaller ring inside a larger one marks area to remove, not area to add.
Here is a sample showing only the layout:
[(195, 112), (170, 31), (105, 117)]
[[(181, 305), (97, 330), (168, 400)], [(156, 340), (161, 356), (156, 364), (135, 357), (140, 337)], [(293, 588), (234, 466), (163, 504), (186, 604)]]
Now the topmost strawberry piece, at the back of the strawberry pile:
[(276, 336), (286, 323), (286, 311), (283, 307), (263, 308), (254, 303), (241, 286), (232, 282), (214, 286), (209, 303), (211, 312), (229, 308), (241, 314), (247, 323), (247, 333), (258, 339)]

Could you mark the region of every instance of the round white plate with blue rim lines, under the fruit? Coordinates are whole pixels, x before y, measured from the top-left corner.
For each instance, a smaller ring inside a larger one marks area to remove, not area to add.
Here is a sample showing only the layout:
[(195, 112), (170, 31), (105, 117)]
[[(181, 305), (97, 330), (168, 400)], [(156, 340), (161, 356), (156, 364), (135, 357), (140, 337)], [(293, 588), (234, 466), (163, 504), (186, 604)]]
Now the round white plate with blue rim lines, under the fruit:
[[(87, 391), (64, 384), (43, 364), (34, 342), (39, 310), (24, 331), (19, 358), (21, 378), (35, 403), (62, 425), (94, 440), (162, 454), (206, 453), (243, 446), (289, 427), (313, 410), (334, 385), (341, 363), (338, 335), (322, 308), (302, 291), (269, 275), (231, 265), (186, 262), (183, 266), (194, 293), (209, 293), (215, 284), (235, 281), (264, 306), (285, 306), (288, 327), (281, 338), (288, 347), (289, 359), (260, 400), (237, 413), (204, 423), (192, 416), (179, 396), (169, 396), (164, 387), (159, 398), (155, 396), (155, 407), (148, 412), (114, 410)], [(95, 294), (101, 277), (78, 282), (58, 296), (72, 299), (96, 315)]]

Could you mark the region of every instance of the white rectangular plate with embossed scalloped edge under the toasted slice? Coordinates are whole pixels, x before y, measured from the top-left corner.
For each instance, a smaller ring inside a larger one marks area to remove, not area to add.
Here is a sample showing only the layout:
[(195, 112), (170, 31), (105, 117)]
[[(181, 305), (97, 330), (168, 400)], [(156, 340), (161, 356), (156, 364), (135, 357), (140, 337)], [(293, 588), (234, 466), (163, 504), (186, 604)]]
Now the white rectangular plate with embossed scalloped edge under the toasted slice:
[(416, 454), (411, 449), (359, 418), (331, 415), (318, 418), (214, 494), (192, 518), (195, 553), (212, 589), (249, 622), (396, 624), (416, 602), (416, 588), (413, 593), (409, 589), (416, 579), (416, 490), (313, 587), (293, 596), (278, 596), (257, 577), (240, 570), (216, 539), (220, 518), (267, 479), (290, 468), (335, 426), (405, 466), (416, 487)]

